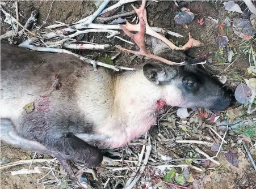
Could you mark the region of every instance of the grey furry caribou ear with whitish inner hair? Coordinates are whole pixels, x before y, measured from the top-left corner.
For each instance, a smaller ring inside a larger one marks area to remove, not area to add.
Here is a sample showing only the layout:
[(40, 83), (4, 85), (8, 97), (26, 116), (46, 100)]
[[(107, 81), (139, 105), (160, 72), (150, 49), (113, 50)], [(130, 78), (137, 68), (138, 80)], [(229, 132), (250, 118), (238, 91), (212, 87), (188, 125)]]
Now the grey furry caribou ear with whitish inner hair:
[(143, 74), (146, 79), (158, 85), (169, 83), (177, 75), (177, 70), (165, 64), (146, 63), (143, 66)]

